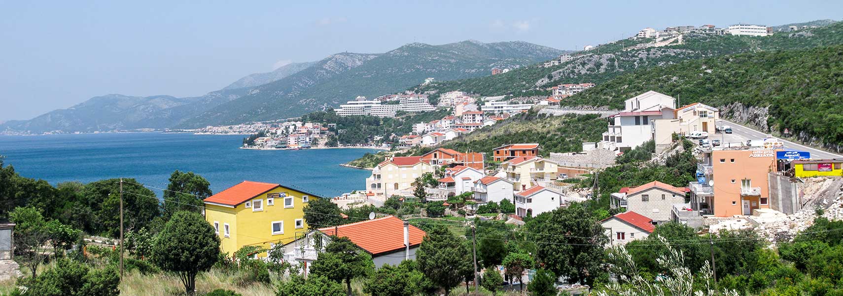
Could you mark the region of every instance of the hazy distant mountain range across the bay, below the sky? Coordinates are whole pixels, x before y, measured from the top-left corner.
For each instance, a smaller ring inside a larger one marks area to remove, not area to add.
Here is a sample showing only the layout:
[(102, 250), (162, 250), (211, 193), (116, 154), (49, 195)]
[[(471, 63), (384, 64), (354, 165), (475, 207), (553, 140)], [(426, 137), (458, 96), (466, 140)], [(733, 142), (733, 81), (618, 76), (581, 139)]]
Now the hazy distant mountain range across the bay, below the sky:
[(0, 133), (196, 128), (285, 119), (330, 109), (357, 95), (394, 94), (425, 78), (486, 76), (492, 67), (524, 67), (563, 52), (524, 41), (475, 40), (439, 46), (411, 43), (375, 54), (342, 52), (251, 74), (199, 97), (97, 96), (31, 120), (7, 121), (0, 124)]

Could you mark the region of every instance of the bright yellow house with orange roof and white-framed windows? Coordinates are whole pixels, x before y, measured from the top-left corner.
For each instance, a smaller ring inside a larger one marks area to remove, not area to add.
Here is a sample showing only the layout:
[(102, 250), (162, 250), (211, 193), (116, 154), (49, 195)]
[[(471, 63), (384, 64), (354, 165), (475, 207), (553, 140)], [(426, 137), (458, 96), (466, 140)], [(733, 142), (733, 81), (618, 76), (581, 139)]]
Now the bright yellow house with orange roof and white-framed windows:
[(280, 184), (243, 181), (206, 198), (205, 219), (217, 231), (223, 252), (233, 256), (246, 245), (269, 249), (303, 235), (308, 228), (303, 207), (316, 198)]

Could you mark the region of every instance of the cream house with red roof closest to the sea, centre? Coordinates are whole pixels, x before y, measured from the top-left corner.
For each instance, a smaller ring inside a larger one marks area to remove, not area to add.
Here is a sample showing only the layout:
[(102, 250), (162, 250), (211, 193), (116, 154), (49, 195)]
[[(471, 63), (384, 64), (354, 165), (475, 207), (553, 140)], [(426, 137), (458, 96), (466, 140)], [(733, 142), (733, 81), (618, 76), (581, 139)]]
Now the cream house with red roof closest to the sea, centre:
[(421, 156), (393, 157), (378, 164), (366, 178), (366, 190), (387, 198), (397, 191), (416, 186), (416, 178), (432, 173), (433, 166)]

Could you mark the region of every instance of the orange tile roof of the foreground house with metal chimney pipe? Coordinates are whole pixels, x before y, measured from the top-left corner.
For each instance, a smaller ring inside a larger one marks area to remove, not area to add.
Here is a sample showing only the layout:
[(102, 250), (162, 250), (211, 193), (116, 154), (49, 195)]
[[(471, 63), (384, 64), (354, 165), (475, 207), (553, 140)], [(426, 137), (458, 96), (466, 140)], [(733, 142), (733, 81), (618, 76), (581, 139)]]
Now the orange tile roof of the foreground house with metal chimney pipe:
[[(334, 235), (335, 228), (319, 229), (327, 235)], [(404, 246), (404, 221), (395, 216), (366, 220), (336, 227), (337, 236), (352, 240), (354, 245), (366, 250), (369, 254), (379, 255), (395, 250), (402, 250)], [(410, 247), (421, 245), (421, 239), (427, 235), (416, 226), (409, 226)]]

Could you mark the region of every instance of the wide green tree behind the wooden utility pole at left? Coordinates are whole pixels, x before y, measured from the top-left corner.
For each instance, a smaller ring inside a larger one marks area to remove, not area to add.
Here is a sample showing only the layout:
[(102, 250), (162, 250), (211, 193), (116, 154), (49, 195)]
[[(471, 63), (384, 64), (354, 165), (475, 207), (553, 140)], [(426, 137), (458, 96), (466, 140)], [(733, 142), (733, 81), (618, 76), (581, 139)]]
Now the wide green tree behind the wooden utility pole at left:
[[(123, 220), (126, 230), (147, 227), (161, 210), (155, 193), (140, 185), (137, 180), (123, 179)], [(84, 186), (83, 207), (93, 213), (89, 234), (120, 234), (120, 179), (99, 180)]]

